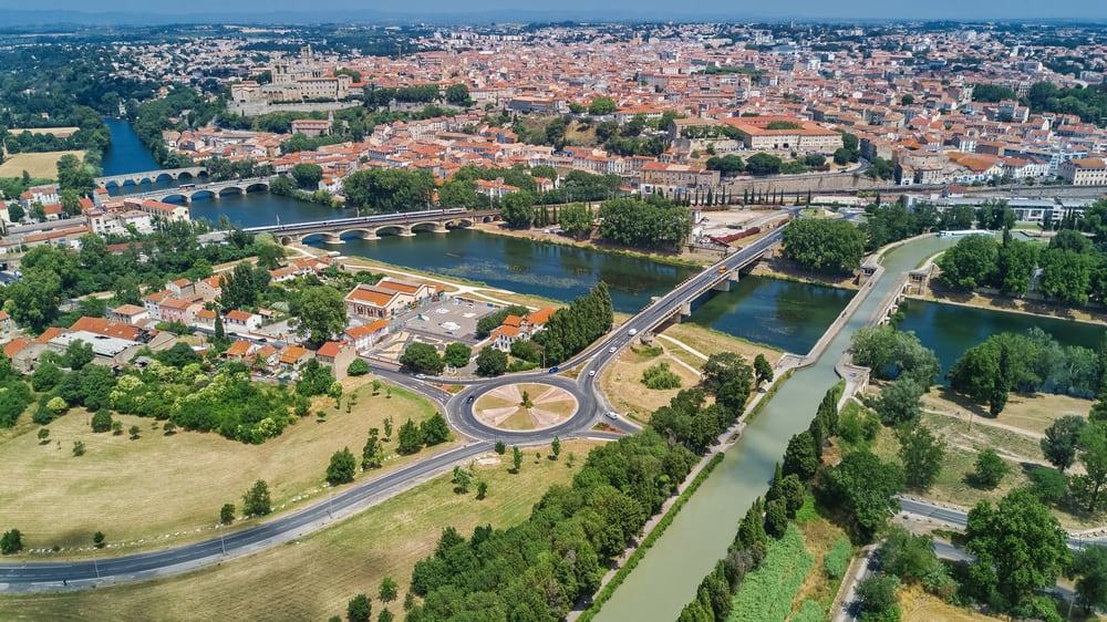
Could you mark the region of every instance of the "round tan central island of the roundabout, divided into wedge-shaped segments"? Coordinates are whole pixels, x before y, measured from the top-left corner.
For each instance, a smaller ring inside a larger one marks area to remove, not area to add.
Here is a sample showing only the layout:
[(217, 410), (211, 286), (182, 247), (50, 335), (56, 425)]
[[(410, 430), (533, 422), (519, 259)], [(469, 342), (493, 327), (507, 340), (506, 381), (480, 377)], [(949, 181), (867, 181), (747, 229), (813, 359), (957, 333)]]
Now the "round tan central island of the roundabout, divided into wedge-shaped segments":
[(569, 391), (545, 383), (497, 386), (473, 404), (480, 423), (504, 431), (540, 431), (557, 426), (577, 412)]

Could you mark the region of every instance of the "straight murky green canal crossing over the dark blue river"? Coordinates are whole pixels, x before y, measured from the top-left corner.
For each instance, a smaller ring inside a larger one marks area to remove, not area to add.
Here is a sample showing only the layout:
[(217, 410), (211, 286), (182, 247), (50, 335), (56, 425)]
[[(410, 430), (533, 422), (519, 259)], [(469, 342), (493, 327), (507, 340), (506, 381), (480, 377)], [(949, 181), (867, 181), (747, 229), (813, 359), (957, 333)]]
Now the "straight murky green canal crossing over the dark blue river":
[(846, 326), (811, 366), (798, 370), (727, 450), (723, 463), (701, 485), (664, 535), (604, 603), (597, 620), (676, 620), (695, 590), (737, 532), (738, 520), (768, 489), (774, 467), (792, 435), (806, 429), (826, 391), (838, 382), (834, 371), (851, 335), (872, 315), (903, 270), (955, 240), (924, 238), (889, 253), (884, 276)]

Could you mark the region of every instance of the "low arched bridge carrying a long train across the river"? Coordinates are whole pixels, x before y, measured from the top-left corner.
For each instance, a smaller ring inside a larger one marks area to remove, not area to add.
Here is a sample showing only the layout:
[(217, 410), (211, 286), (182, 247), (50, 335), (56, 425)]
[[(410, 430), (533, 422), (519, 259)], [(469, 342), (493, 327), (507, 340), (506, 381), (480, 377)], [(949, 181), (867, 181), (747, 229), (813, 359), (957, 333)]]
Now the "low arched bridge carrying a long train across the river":
[(465, 229), (478, 222), (499, 220), (498, 209), (466, 210), (463, 208), (428, 209), (401, 214), (374, 214), (355, 218), (270, 225), (246, 229), (250, 234), (271, 234), (282, 245), (302, 242), (319, 237), (325, 243), (342, 243), (343, 238), (355, 236), (363, 240), (377, 240), (381, 236), (414, 236), (420, 231), (445, 234), (449, 229)]

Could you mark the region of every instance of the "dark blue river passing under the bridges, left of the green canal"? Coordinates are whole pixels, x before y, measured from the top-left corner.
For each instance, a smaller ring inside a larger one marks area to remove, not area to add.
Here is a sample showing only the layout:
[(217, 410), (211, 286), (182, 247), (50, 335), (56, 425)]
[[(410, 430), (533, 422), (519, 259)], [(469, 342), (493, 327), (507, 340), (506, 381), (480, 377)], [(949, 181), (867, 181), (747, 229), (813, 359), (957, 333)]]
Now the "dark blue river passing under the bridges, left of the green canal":
[[(104, 156), (104, 174), (155, 170), (157, 164), (123, 121), (105, 120), (112, 149)], [(176, 185), (162, 182), (158, 186)], [(127, 186), (122, 194), (151, 186)], [(113, 194), (115, 194), (113, 191)], [(325, 220), (341, 210), (270, 193), (201, 198), (188, 206), (194, 219), (218, 222), (226, 216), (241, 227)], [(446, 277), (480, 281), (524, 294), (569, 301), (598, 281), (608, 283), (615, 311), (635, 313), (692, 274), (692, 268), (588, 248), (540, 243), (475, 230), (423, 232), (380, 240), (350, 239), (342, 245), (309, 243), (343, 255), (368, 257)], [(789, 352), (806, 352), (846, 305), (849, 293), (834, 288), (775, 281), (756, 277), (730, 292), (718, 292), (693, 307), (691, 321), (742, 339)]]

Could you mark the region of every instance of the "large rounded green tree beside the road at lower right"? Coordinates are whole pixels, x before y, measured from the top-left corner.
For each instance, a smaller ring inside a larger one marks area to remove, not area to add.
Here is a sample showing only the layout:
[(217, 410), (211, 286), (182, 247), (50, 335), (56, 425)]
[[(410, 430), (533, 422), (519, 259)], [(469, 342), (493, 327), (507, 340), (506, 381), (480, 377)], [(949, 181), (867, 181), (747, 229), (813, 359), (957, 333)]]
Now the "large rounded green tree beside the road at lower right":
[(1057, 518), (1027, 490), (1007, 494), (995, 508), (981, 501), (965, 526), (965, 550), (976, 556), (969, 582), (1000, 609), (1020, 604), (1056, 583), (1072, 561), (1066, 540)]

